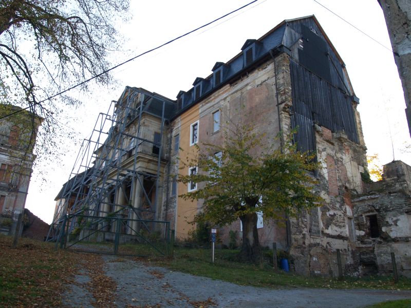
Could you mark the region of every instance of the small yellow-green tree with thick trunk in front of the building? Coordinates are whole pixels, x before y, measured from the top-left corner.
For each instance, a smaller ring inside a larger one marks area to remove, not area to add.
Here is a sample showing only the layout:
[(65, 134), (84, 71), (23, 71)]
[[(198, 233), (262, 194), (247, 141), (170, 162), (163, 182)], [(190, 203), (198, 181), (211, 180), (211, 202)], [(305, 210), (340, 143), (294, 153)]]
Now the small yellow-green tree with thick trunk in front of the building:
[(179, 175), (182, 183), (198, 183), (197, 190), (180, 197), (203, 200), (202, 215), (195, 222), (227, 225), (240, 219), (240, 257), (259, 262), (257, 212), (263, 211), (264, 218), (282, 219), (321, 202), (312, 189), (317, 181), (307, 171), (319, 164), (309, 153), (299, 152), (290, 138), (281, 149), (278, 140), (267, 146), (264, 134), (242, 124), (232, 124), (223, 134), (223, 145), (202, 144), (193, 157), (180, 162), (181, 168), (199, 169), (196, 174)]

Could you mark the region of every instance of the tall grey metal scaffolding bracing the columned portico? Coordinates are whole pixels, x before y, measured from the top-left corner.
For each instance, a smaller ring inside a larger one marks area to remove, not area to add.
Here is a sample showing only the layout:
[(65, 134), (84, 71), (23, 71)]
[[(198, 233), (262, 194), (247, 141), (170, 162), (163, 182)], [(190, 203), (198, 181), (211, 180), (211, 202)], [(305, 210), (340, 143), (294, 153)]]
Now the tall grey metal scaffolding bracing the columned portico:
[(153, 242), (170, 239), (170, 223), (157, 220), (157, 208), (163, 134), (173, 108), (173, 101), (134, 87), (111, 101), (58, 195), (48, 241), (76, 249), (114, 243), (115, 254), (121, 243), (145, 243), (165, 254)]

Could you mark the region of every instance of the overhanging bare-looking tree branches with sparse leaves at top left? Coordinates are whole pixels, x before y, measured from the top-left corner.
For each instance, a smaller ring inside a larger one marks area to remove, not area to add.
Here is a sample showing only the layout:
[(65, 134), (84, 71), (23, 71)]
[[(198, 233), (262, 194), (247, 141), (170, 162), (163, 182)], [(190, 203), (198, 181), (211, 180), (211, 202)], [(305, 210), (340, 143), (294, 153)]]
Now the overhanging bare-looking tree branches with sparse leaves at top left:
[[(61, 109), (48, 98), (109, 67), (108, 53), (118, 50), (115, 22), (127, 10), (128, 0), (0, 2), (0, 102), (6, 106), (0, 113), (16, 105), (45, 119), (40, 139), (46, 154), (54, 151), (50, 136), (60, 133), (55, 113)], [(97, 81), (108, 84), (111, 76), (101, 74)]]

